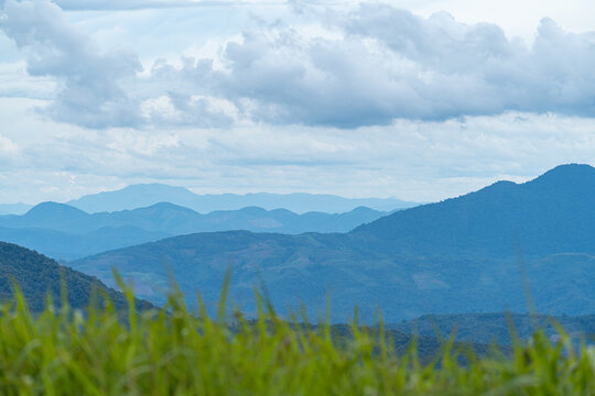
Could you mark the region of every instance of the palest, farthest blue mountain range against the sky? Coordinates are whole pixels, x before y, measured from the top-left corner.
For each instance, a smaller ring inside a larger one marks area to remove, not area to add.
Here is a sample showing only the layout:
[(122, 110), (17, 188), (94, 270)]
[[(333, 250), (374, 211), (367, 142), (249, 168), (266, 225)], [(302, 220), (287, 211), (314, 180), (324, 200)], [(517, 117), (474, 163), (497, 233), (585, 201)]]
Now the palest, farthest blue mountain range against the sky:
[(333, 195), (312, 194), (220, 194), (196, 195), (182, 187), (162, 184), (133, 185), (116, 191), (99, 193), (67, 202), (86, 212), (111, 212), (152, 206), (159, 202), (171, 202), (193, 209), (199, 213), (215, 210), (238, 210), (246, 207), (259, 207), (267, 210), (286, 209), (295, 213), (318, 211), (342, 213), (357, 207), (368, 207), (379, 211), (411, 208), (414, 202), (396, 198), (361, 198), (350, 199)]

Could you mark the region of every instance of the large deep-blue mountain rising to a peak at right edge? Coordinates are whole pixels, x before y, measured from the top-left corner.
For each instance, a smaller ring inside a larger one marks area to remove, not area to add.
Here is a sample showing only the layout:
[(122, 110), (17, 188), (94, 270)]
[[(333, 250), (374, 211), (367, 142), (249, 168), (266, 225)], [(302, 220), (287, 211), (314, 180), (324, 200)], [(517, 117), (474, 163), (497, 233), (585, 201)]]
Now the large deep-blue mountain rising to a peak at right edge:
[[(267, 284), (281, 307), (312, 311), (332, 295), (334, 319), (358, 305), (387, 321), (423, 314), (524, 311), (523, 283), (539, 311), (595, 311), (595, 169), (556, 167), (526, 184), (398, 211), (346, 234), (199, 233), (107, 252), (72, 263), (109, 282), (109, 268), (136, 276), (159, 300), (169, 268), (190, 301), (215, 301), (228, 265), (231, 295), (246, 310)], [(370, 314), (371, 316), (371, 314)]]

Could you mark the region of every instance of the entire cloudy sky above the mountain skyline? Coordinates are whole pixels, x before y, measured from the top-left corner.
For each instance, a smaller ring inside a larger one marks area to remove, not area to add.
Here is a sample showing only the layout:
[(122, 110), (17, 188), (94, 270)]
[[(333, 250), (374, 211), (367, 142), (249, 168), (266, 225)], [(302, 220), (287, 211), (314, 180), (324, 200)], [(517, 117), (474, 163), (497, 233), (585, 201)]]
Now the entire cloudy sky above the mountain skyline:
[(595, 165), (592, 0), (0, 0), (0, 202), (435, 201)]

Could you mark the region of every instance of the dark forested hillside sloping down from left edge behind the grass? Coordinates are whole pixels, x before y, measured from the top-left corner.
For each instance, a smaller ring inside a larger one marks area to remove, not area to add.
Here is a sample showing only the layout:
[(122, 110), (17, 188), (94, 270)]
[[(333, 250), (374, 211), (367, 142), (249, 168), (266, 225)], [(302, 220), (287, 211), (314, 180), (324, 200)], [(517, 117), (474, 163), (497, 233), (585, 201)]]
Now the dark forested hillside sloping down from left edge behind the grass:
[[(12, 243), (0, 242), (0, 298), (10, 298), (13, 283), (20, 286), (32, 311), (44, 308), (47, 293), (51, 292), (56, 306), (61, 304), (61, 276), (66, 280), (68, 305), (86, 308), (89, 304), (91, 285), (101, 295), (107, 294), (119, 308), (126, 306), (125, 296), (108, 288), (93, 276), (64, 267), (52, 258)], [(147, 301), (137, 301), (138, 307), (149, 307)]]

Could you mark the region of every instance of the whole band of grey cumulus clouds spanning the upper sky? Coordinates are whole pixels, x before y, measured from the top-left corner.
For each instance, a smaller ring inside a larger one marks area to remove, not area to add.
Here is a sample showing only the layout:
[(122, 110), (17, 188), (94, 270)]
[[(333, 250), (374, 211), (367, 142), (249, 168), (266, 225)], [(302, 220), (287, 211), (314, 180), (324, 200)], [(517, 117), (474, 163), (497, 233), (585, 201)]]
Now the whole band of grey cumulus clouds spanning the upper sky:
[(217, 58), (160, 61), (142, 74), (136, 54), (101, 52), (47, 0), (8, 0), (0, 29), (29, 50), (31, 75), (61, 81), (47, 114), (93, 128), (354, 129), (509, 111), (595, 113), (595, 32), (569, 33), (543, 19), (528, 45), (495, 24), (380, 3), (307, 18), (314, 22), (247, 30)]

